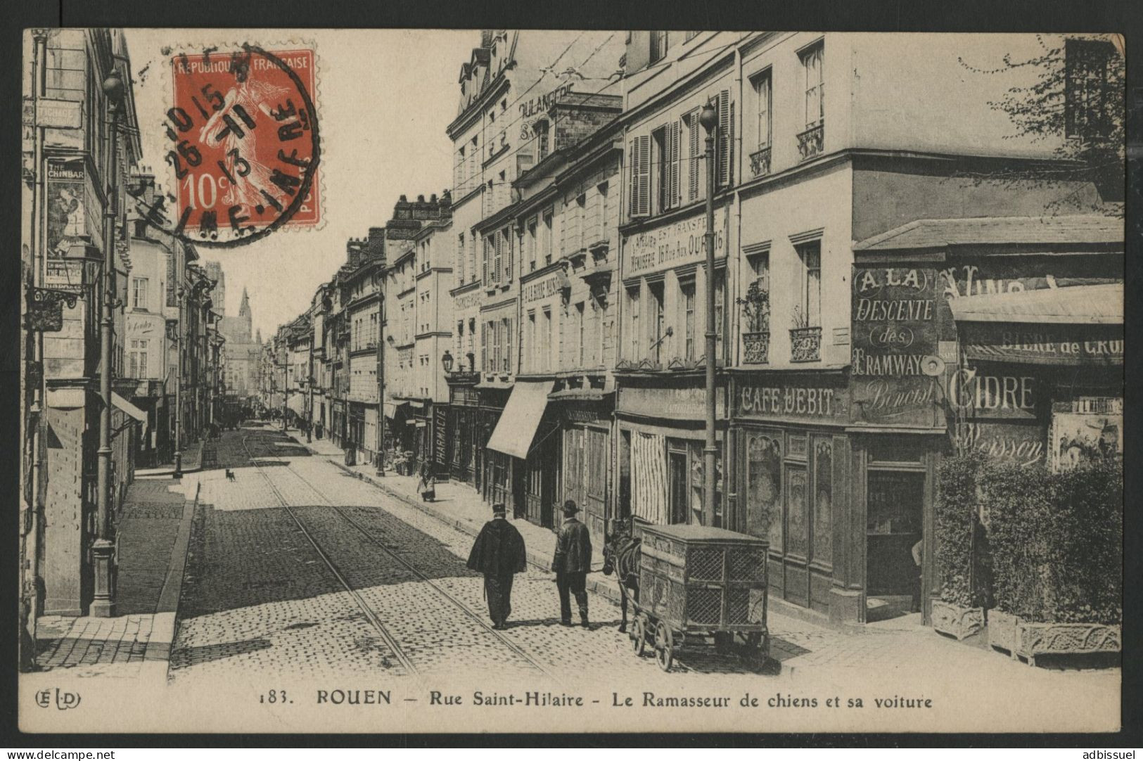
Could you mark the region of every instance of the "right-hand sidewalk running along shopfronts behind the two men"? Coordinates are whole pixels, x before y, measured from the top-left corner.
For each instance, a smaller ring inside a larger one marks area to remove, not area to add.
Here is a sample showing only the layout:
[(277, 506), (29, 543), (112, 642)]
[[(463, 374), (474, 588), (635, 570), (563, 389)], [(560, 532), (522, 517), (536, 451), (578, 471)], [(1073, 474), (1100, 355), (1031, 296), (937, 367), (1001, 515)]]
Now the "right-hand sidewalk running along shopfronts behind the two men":
[[(294, 441), (299, 442), (314, 455), (328, 458), (346, 473), (371, 483), (385, 494), (401, 499), (469, 536), (475, 537), (480, 532), (480, 528), (491, 520), (491, 505), (483, 502), (480, 494), (467, 483), (439, 482), (435, 486), (435, 502), (422, 502), (421, 492), (417, 490), (418, 476), (397, 474), (378, 476), (377, 468), (373, 465), (346, 465), (345, 452), (327, 439), (314, 439), (312, 442), (305, 442), (304, 436), (290, 435)], [(523, 536), (523, 544), (528, 550), (528, 563), (539, 570), (551, 571), (552, 553), (555, 551), (555, 532), (526, 520), (513, 520), (512, 526), (519, 529), (520, 535)], [(588, 588), (617, 603), (620, 587), (615, 577), (596, 572), (600, 571), (602, 567), (604, 547), (601, 543), (597, 543), (591, 548), (592, 574), (588, 576)]]

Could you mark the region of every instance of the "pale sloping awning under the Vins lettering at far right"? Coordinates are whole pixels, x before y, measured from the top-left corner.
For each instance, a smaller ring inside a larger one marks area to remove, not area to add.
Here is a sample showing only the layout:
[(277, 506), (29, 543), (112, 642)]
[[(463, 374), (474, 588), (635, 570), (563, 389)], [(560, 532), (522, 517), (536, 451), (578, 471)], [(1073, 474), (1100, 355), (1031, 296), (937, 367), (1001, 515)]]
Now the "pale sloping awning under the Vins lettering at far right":
[(1124, 285), (980, 294), (949, 301), (958, 322), (1122, 325)]

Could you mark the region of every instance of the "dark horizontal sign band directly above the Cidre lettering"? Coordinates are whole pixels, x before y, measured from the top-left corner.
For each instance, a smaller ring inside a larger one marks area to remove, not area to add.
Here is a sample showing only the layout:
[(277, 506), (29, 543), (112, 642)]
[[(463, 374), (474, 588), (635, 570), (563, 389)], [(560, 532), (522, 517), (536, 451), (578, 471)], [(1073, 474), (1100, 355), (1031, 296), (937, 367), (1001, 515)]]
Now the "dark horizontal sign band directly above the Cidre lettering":
[(1038, 326), (966, 322), (968, 359), (1031, 365), (1122, 365), (1122, 326)]

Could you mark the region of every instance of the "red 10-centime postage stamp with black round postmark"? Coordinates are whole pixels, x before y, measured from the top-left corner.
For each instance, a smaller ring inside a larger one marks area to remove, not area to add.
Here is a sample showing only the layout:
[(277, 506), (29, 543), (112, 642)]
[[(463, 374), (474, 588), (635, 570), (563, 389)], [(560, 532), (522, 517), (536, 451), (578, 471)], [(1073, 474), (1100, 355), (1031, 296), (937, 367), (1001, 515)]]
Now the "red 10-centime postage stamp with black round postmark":
[(234, 246), (321, 221), (311, 49), (246, 45), (171, 58), (165, 157), (176, 234)]

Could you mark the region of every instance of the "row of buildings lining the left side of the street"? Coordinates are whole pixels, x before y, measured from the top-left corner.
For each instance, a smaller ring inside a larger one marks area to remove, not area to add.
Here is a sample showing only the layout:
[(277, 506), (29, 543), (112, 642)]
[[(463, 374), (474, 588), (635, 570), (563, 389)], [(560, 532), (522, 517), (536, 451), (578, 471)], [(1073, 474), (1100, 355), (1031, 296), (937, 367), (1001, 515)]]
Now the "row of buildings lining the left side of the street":
[(215, 419), (215, 280), (154, 210), (119, 30), (24, 37), (21, 569), (40, 616), (113, 616), (136, 468), (178, 471)]

